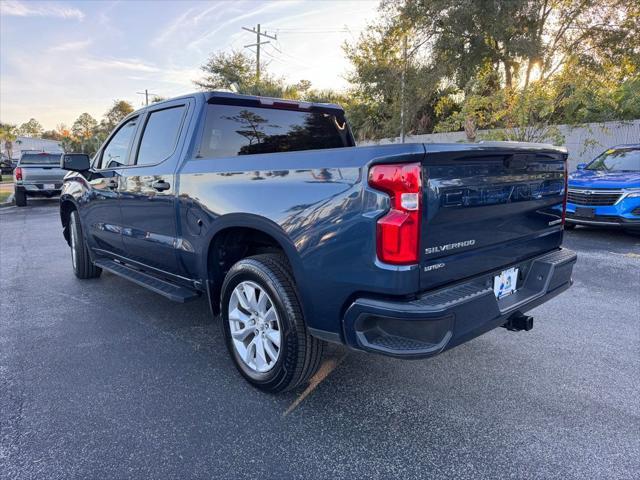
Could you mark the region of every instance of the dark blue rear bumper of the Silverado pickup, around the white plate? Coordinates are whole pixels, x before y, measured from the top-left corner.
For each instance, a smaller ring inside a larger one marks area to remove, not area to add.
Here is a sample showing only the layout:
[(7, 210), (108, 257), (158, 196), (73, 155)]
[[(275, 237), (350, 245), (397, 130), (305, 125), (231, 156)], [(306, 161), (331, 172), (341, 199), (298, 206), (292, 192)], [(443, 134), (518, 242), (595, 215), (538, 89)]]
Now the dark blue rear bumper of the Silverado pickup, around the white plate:
[(522, 277), (517, 291), (500, 300), (493, 293), (493, 277), (499, 271), (414, 300), (358, 298), (343, 318), (346, 342), (359, 350), (400, 358), (436, 355), (569, 288), (576, 259), (574, 252), (559, 249), (511, 265), (520, 269)]

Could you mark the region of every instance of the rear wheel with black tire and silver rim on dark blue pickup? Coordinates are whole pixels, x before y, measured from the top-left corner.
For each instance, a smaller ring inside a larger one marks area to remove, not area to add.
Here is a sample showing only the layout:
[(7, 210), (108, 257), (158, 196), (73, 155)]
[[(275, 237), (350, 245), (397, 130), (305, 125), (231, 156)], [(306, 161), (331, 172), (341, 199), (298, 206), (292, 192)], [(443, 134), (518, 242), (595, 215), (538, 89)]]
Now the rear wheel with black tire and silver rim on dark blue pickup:
[[(254, 288), (253, 303), (251, 288)], [(260, 304), (267, 311), (264, 315), (260, 313)], [(247, 309), (247, 305), (255, 308)], [(284, 256), (256, 255), (233, 265), (222, 285), (220, 310), (222, 331), (233, 363), (256, 388), (271, 393), (291, 390), (307, 382), (318, 370), (324, 342), (307, 332), (293, 275)], [(251, 310), (254, 315), (250, 315)], [(264, 328), (261, 333), (260, 328)], [(276, 348), (271, 339), (278, 335)], [(264, 344), (262, 355), (258, 353), (260, 343)], [(276, 358), (272, 357), (273, 352)]]

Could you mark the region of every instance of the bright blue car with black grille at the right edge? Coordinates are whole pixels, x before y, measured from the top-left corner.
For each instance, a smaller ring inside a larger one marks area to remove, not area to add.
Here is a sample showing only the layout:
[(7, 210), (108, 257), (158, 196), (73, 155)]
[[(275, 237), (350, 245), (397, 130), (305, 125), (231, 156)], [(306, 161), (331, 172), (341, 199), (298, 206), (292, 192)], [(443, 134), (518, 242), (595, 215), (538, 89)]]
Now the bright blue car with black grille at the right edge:
[(618, 145), (569, 176), (567, 228), (640, 230), (640, 144)]

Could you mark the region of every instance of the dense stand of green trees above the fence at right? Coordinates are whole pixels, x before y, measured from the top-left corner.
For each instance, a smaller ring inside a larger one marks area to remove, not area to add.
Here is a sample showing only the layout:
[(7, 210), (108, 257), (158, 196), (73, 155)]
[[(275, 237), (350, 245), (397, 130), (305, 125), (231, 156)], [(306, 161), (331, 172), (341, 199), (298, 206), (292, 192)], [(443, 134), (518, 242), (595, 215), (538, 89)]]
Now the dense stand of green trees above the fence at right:
[(355, 127), (373, 137), (398, 135), (404, 111), (414, 133), (464, 130), (473, 141), (478, 128), (498, 128), (557, 141), (553, 123), (639, 109), (638, 2), (383, 0), (345, 51), (362, 100)]

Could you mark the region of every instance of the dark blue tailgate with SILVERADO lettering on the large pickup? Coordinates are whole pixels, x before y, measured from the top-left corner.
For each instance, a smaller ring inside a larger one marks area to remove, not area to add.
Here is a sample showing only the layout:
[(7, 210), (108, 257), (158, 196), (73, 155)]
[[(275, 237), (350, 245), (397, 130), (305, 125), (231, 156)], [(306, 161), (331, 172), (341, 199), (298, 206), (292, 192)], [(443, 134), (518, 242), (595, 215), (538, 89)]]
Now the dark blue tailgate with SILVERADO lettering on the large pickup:
[(425, 149), (421, 289), (560, 246), (565, 150), (506, 142)]

